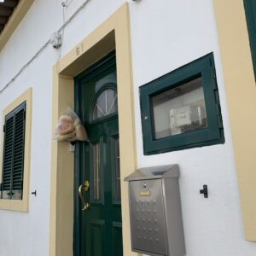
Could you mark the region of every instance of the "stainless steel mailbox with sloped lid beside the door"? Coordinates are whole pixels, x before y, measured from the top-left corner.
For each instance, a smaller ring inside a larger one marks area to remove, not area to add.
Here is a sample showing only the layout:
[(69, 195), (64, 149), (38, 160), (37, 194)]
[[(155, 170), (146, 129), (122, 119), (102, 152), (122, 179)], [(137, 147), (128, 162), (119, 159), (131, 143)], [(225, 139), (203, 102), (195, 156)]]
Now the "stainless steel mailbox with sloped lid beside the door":
[(129, 182), (132, 251), (153, 256), (185, 254), (177, 165), (142, 168)]

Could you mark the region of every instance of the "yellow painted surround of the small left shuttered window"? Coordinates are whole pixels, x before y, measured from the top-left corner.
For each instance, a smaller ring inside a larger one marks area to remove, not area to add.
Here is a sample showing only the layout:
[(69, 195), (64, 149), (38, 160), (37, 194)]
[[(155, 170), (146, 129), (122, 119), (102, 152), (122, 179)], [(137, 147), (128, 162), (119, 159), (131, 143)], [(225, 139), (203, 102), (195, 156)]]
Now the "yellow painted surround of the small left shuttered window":
[[(14, 102), (3, 109), (3, 125), (5, 125), (5, 118), (18, 108), (23, 102), (26, 102), (26, 123), (25, 123), (25, 144), (24, 144), (24, 166), (23, 166), (23, 189), (22, 199), (10, 200), (0, 199), (1, 210), (12, 210), (19, 212), (29, 211), (29, 177), (30, 177), (30, 159), (31, 159), (31, 125), (32, 125), (32, 88), (26, 90), (22, 95), (17, 97)], [(3, 131), (3, 129), (2, 129)], [(0, 151), (0, 180), (3, 177), (3, 148), (4, 148), (4, 131), (2, 132), (2, 145)]]

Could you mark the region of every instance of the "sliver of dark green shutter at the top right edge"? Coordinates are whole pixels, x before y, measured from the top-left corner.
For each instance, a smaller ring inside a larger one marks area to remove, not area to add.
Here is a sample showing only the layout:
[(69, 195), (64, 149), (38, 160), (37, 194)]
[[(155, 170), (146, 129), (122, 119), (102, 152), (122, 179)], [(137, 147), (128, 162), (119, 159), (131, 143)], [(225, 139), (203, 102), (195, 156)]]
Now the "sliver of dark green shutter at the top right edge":
[(243, 3), (247, 18), (247, 29), (253, 58), (254, 76), (256, 76), (256, 1), (244, 0)]

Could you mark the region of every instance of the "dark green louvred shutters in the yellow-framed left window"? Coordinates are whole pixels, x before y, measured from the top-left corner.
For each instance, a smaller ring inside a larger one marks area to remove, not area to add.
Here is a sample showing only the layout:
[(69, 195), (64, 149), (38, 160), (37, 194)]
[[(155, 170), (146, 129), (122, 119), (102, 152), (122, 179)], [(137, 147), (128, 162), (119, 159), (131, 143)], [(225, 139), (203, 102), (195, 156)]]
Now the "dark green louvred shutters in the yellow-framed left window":
[(24, 169), (26, 103), (5, 118), (2, 198), (21, 199)]

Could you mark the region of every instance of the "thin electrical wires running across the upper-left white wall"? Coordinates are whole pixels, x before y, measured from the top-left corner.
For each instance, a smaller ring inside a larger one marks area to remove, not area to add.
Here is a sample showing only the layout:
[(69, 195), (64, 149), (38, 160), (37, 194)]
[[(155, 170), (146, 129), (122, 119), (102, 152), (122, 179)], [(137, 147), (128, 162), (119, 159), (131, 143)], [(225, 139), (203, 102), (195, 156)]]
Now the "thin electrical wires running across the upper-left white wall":
[[(79, 9), (77, 9), (77, 10), (73, 13), (73, 15), (71, 15), (71, 16), (66, 20), (66, 17), (65, 17), (65, 15), (66, 15), (66, 14), (65, 14), (65, 9), (66, 9), (66, 7), (67, 7), (70, 3), (72, 3), (72, 2), (73, 2), (73, 0), (67, 0), (67, 1), (61, 3), (62, 8), (63, 8), (63, 15), (62, 15), (63, 25), (57, 30), (57, 32), (61, 33), (62, 41), (63, 41), (63, 37), (64, 37), (64, 29), (65, 29), (65, 27), (66, 27), (77, 15), (79, 15), (79, 12), (80, 12), (82, 9), (84, 9), (84, 7), (87, 5), (87, 3), (90, 2), (90, 0), (84, 1), (84, 3), (82, 3), (82, 4), (80, 5)], [(10, 79), (7, 84), (5, 84), (5, 85), (3, 86), (3, 88), (0, 90), (0, 95), (3, 93), (4, 90), (6, 90), (6, 89), (9, 87), (10, 84), (12, 84), (12, 83), (15, 81), (15, 79), (17, 79), (17, 78), (20, 76), (21, 73), (24, 72), (24, 70), (26, 69), (26, 67), (28, 67), (28, 66), (32, 63), (32, 61), (34, 61), (34, 60), (38, 57), (38, 55), (40, 55), (40, 54), (44, 51), (44, 49), (48, 47), (49, 44), (50, 44), (50, 39), (48, 39), (48, 40), (43, 44), (43, 46), (42, 46), (40, 49), (38, 49), (38, 51), (36, 52), (36, 54), (33, 55), (32, 58), (31, 58), (29, 61), (27, 61), (26, 64), (23, 65), (23, 66), (20, 68), (19, 72), (16, 73), (15, 76), (14, 76), (12, 79)], [(59, 48), (58, 60), (59, 60), (60, 58), (61, 58), (61, 47)]]

